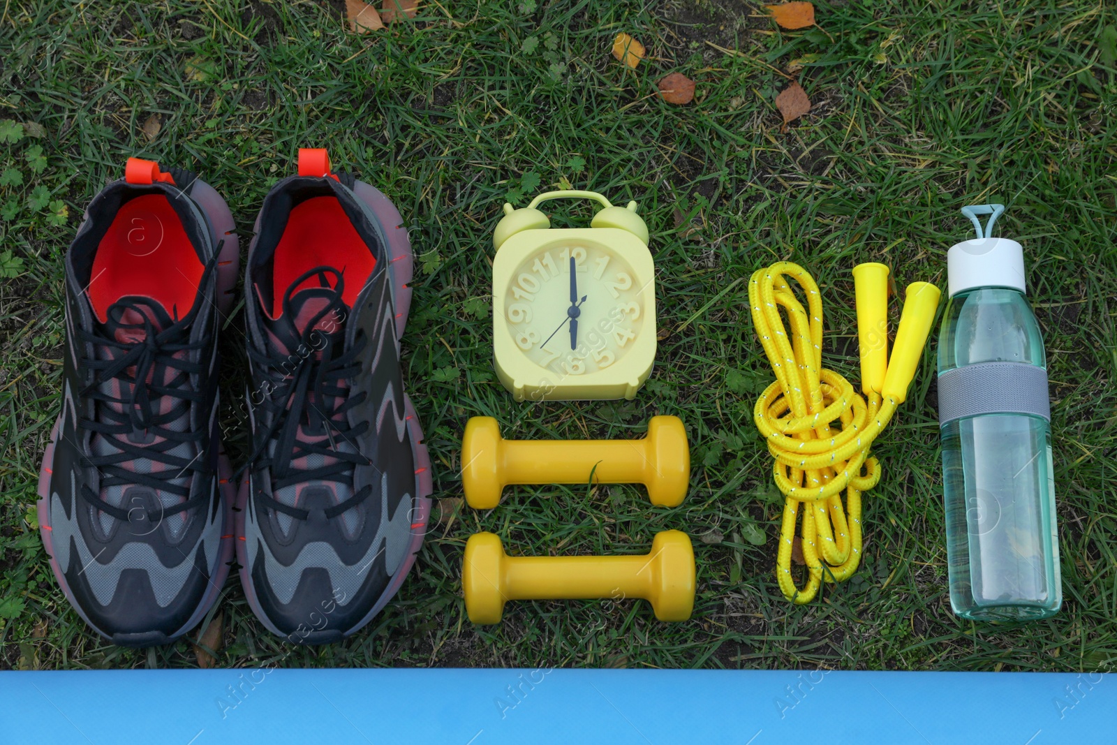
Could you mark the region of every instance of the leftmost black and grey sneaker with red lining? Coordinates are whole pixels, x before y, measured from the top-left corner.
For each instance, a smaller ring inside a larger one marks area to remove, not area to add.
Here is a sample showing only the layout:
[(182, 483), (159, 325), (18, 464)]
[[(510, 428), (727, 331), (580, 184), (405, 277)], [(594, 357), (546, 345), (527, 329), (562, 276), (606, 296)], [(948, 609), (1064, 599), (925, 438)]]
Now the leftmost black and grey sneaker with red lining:
[(39, 529), (66, 598), (117, 644), (197, 625), (232, 562), (214, 372), (238, 261), (225, 200), (137, 159), (89, 203), (66, 255), (63, 410)]

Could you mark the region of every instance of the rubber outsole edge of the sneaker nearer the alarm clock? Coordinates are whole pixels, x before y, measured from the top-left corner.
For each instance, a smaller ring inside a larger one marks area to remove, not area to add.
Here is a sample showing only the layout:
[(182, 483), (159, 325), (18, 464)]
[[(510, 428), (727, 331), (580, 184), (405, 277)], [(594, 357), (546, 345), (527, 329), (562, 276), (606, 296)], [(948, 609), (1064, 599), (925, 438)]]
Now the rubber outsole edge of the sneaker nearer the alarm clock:
[[(391, 276), (393, 300), (395, 304), (395, 328), (397, 338), (403, 338), (403, 329), (407, 326), (408, 315), (411, 309), (411, 288), (408, 283), (414, 273), (414, 255), (411, 251), (411, 241), (408, 238), (408, 231), (403, 226), (403, 218), (400, 216), (399, 210), (392, 204), (391, 200), (384, 195), (375, 187), (364, 183), (363, 181), (357, 181), (354, 184), (353, 192), (363, 201), (369, 209), (373, 211), (376, 219), (380, 220), (381, 227), (384, 229), (388, 239), (388, 252), (389, 252), (389, 266), (388, 271)], [(259, 233), (260, 222), (259, 217), (256, 219), (256, 232)], [(332, 643), (340, 641), (344, 637), (349, 637), (365, 624), (369, 623), (384, 605), (392, 599), (395, 592), (403, 584), (403, 580), (407, 579), (408, 573), (414, 565), (416, 560), (419, 555), (419, 550), (422, 547), (423, 537), (427, 535), (427, 525), (430, 522), (430, 507), (431, 500), (430, 495), (435, 490), (435, 481), (430, 472), (430, 453), (427, 450), (427, 446), (423, 443), (423, 432), (419, 424), (419, 417), (416, 413), (414, 405), (411, 403), (411, 399), (408, 398), (407, 393), (403, 394), (404, 413), (407, 418), (408, 427), (408, 438), (411, 440), (411, 452), (416, 464), (416, 500), (412, 507), (411, 517), (411, 545), (408, 547), (408, 553), (397, 570), (395, 575), (392, 581), (381, 593), (380, 598), (373, 604), (372, 609), (361, 619), (361, 621), (354, 624), (351, 629), (344, 631), (328, 630), (328, 631), (311, 631), (306, 636), (299, 637), (296, 632), (283, 633), (276, 625), (268, 620), (267, 614), (264, 612), (262, 606), (259, 603), (259, 598), (256, 593), (256, 588), (252, 583), (251, 576), (248, 573), (248, 546), (245, 541), (245, 517), (248, 509), (248, 475), (241, 480), (237, 495), (237, 517), (236, 517), (236, 531), (237, 531), (237, 563), (240, 564), (240, 584), (245, 589), (245, 598), (248, 600), (248, 605), (256, 613), (256, 617), (264, 623), (265, 628), (271, 633), (283, 637), (288, 641), (303, 644), (322, 644)]]

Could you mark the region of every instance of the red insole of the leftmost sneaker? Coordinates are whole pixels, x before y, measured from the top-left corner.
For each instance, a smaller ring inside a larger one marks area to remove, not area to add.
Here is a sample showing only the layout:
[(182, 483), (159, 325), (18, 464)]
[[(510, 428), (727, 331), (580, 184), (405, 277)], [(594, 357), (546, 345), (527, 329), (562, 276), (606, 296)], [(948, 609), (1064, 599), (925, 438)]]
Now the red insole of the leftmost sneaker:
[(150, 297), (172, 318), (194, 305), (202, 262), (163, 194), (137, 197), (120, 209), (97, 245), (87, 290), (102, 323), (122, 297)]

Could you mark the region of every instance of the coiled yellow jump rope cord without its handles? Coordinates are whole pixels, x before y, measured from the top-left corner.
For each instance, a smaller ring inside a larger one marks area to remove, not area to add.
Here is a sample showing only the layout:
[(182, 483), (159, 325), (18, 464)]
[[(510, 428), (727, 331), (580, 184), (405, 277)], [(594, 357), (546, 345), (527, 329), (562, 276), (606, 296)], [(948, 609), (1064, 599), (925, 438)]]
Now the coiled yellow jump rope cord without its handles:
[[(805, 292), (806, 309), (787, 277)], [(840, 582), (857, 571), (861, 560), (861, 493), (880, 480), (880, 464), (869, 457), (869, 447), (891, 419), (898, 401), (876, 392), (866, 401), (844, 378), (822, 366), (822, 296), (801, 266), (780, 261), (757, 270), (748, 283), (748, 304), (776, 378), (753, 410), (756, 428), (775, 459), (775, 485), (785, 497), (776, 579), (784, 598), (809, 603), (823, 580)], [(781, 307), (791, 334), (784, 327)], [(809, 574), (802, 589), (795, 586), (791, 574), (800, 512)]]

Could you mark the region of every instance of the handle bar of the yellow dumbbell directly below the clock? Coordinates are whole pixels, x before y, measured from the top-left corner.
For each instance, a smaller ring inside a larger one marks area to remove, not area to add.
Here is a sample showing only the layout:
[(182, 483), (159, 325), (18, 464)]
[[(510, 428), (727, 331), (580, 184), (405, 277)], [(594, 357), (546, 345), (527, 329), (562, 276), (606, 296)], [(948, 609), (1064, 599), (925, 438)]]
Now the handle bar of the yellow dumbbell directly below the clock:
[(647, 440), (504, 440), (505, 484), (642, 484), (648, 476)]

